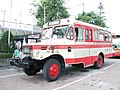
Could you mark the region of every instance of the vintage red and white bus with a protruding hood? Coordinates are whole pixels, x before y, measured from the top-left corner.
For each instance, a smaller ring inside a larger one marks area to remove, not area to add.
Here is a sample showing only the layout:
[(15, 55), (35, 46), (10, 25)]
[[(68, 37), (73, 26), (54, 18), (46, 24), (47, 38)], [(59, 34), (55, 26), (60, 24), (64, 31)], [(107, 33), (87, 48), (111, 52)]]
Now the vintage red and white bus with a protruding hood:
[[(24, 41), (21, 66), (25, 74), (40, 70), (48, 81), (59, 78), (66, 65), (101, 68), (111, 57), (112, 35), (109, 30), (77, 20), (60, 19), (43, 26), (39, 42)], [(14, 61), (11, 61), (12, 65)]]

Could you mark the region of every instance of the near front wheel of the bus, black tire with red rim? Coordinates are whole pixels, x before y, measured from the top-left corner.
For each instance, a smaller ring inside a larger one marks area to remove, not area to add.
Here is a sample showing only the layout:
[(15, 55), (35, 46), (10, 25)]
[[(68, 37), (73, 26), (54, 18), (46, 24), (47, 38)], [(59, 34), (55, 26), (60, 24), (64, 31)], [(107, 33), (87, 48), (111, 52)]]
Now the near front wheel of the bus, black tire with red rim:
[(43, 77), (51, 82), (59, 78), (61, 72), (60, 62), (56, 59), (49, 59), (43, 66)]

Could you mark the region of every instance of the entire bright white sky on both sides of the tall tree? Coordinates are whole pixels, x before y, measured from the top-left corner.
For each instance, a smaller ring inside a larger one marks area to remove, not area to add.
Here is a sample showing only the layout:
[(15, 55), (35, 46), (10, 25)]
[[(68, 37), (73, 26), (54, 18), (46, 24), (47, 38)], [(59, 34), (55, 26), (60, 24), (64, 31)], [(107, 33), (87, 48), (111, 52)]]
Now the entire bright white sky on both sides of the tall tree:
[[(38, 0), (34, 0), (37, 1)], [(26, 26), (29, 28), (30, 25), (35, 24), (34, 17), (30, 14), (30, 9), (32, 5), (30, 5), (33, 0), (12, 0), (12, 8), (11, 8), (11, 20), (10, 20), (10, 4), (11, 0), (0, 0), (0, 20), (3, 20), (5, 12), (5, 20), (20, 23), (25, 23), (23, 28)], [(119, 20), (120, 20), (120, 5), (119, 0), (65, 0), (65, 6), (68, 8), (68, 12), (71, 17), (75, 17), (77, 14), (83, 12), (83, 3), (84, 3), (84, 11), (90, 12), (94, 11), (96, 13), (99, 12), (98, 5), (102, 2), (104, 6), (104, 12), (106, 16), (106, 24), (110, 27), (112, 33), (120, 34), (119, 30)], [(27, 25), (26, 25), (27, 24)], [(0, 22), (2, 26), (3, 23)], [(8, 27), (8, 24), (5, 24)], [(13, 23), (11, 27), (20, 28), (19, 24)]]

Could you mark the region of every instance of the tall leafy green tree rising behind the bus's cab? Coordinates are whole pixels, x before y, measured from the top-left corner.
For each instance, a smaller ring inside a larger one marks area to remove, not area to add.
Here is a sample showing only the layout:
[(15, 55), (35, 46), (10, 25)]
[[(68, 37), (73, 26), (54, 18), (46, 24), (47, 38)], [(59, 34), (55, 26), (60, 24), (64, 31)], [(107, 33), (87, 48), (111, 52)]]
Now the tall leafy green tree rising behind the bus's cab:
[(41, 0), (36, 13), (37, 25), (42, 26), (48, 21), (69, 17), (63, 3), (63, 0)]

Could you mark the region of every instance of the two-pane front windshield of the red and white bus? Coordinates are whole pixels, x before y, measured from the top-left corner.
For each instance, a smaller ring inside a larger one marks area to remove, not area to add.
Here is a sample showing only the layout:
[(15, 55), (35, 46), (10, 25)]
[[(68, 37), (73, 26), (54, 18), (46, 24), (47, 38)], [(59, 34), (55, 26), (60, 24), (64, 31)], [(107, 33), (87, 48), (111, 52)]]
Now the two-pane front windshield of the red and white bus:
[(50, 27), (43, 30), (42, 39), (50, 39), (56, 36), (57, 38), (64, 38), (69, 26), (56, 26)]

